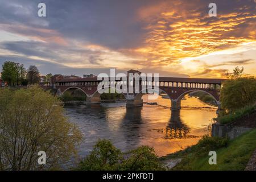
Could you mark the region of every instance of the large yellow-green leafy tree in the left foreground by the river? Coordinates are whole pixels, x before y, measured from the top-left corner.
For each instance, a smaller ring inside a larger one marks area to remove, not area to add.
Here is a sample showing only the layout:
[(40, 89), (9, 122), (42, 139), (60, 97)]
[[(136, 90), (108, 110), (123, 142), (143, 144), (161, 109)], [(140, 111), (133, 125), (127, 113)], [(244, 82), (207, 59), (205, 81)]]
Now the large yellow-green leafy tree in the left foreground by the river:
[[(0, 170), (57, 168), (76, 155), (81, 134), (59, 100), (38, 86), (0, 89)], [(46, 165), (38, 165), (38, 152)]]

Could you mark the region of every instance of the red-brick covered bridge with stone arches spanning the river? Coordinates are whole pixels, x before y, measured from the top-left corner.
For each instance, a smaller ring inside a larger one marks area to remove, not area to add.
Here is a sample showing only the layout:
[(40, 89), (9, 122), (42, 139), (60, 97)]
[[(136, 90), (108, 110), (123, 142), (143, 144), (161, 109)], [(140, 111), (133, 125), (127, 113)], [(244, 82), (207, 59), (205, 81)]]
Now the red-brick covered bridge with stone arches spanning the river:
[[(133, 73), (141, 73), (138, 71), (128, 71), (127, 79), (130, 78), (130, 75)], [(109, 84), (111, 85), (113, 79), (110, 78)], [(146, 80), (146, 81), (144, 81)], [(68, 89), (76, 88), (81, 89), (87, 96), (88, 102), (100, 102), (100, 93), (98, 93), (98, 84), (101, 81), (98, 80), (97, 77), (88, 77), (88, 78), (62, 78), (60, 80), (56, 80), (53, 85), (54, 88), (58, 89), (58, 92), (62, 94)], [(115, 80), (115, 84), (118, 84), (120, 80)], [(225, 81), (223, 79), (216, 78), (179, 78), (179, 77), (159, 77), (157, 80), (152, 78), (152, 80), (142, 79), (139, 82), (139, 88), (141, 90), (140, 93), (129, 94), (124, 93), (127, 102), (126, 106), (142, 106), (142, 96), (143, 96), (143, 86), (158, 86), (159, 92), (165, 92), (171, 99), (171, 109), (180, 109), (180, 100), (181, 98), (190, 92), (194, 91), (205, 91), (206, 93), (212, 95), (217, 101), (219, 89), (221, 88), (222, 82)], [(110, 85), (108, 89), (111, 88)], [(105, 85), (106, 86), (106, 85)], [(127, 90), (128, 90), (128, 85)], [(133, 84), (134, 90), (137, 89)], [(144, 88), (143, 88), (144, 89)], [(217, 102), (220, 105), (220, 102)]]

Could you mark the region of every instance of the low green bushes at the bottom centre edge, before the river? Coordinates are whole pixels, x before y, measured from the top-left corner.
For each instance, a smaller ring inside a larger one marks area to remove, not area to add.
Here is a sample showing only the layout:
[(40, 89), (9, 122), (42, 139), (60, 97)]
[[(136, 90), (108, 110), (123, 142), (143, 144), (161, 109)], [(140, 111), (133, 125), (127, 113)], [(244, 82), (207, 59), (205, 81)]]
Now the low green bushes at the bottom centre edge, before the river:
[(163, 170), (153, 148), (141, 146), (122, 154), (109, 140), (98, 140), (77, 167), (79, 170)]

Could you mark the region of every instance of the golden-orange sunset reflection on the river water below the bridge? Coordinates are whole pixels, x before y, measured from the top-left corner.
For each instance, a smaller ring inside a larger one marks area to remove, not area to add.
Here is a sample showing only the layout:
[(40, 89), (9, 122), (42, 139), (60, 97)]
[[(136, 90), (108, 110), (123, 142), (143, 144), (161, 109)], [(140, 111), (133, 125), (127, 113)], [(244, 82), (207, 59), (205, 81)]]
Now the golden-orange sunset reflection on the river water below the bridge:
[[(195, 97), (185, 96), (181, 101), (183, 108), (180, 114), (171, 115), (170, 99), (159, 96), (158, 106), (143, 105), (141, 109), (111, 106), (106, 108), (106, 121), (110, 131), (123, 130), (134, 137), (134, 142), (140, 145), (154, 147), (159, 156), (167, 155), (196, 144), (207, 134), (207, 127), (211, 119), (216, 117), (217, 107), (209, 106)], [(207, 109), (203, 108), (207, 107)], [(133, 138), (133, 137), (131, 137)], [(127, 139), (130, 139), (127, 137)]]

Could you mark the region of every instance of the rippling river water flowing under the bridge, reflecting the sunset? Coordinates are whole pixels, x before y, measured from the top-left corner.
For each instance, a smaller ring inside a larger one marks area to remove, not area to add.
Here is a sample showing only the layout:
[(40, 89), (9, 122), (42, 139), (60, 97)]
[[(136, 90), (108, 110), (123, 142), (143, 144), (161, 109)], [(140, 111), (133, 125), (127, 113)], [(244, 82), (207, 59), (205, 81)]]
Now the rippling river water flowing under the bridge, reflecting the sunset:
[[(143, 96), (147, 101), (147, 96)], [(196, 144), (207, 133), (216, 117), (216, 107), (195, 97), (185, 97), (182, 109), (170, 110), (170, 100), (159, 96), (158, 105), (126, 108), (122, 103), (65, 106), (69, 121), (76, 123), (84, 140), (79, 146), (81, 157), (88, 155), (97, 139), (110, 139), (122, 151), (141, 145), (155, 148), (163, 156)]]

